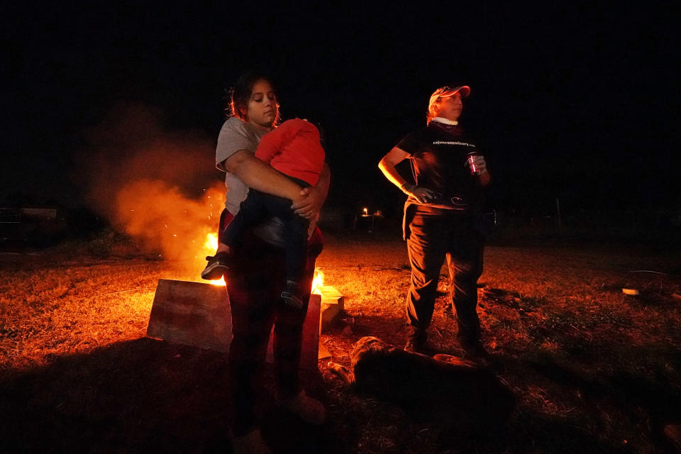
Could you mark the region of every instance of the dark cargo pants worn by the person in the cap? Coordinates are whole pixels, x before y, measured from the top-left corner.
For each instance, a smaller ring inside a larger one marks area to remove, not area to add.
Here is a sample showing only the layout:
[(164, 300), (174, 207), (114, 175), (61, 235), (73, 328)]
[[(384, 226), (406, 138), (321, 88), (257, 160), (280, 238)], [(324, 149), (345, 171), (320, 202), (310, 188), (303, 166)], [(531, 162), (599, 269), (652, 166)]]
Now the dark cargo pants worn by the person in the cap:
[(482, 274), (484, 240), (473, 228), (472, 216), (416, 204), (406, 206), (404, 216), (404, 237), (411, 263), (406, 305), (409, 336), (423, 336), (431, 323), (440, 270), (446, 258), (458, 338), (478, 340), (477, 279)]

